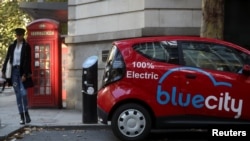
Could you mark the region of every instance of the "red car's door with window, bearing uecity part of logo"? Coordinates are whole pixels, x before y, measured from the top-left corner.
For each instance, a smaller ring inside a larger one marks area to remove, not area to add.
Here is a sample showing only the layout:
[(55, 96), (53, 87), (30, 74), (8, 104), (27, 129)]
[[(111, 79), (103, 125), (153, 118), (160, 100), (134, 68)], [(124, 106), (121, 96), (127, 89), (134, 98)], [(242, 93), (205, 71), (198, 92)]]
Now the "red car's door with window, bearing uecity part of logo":
[(240, 72), (249, 54), (221, 44), (180, 42), (178, 101), (194, 117), (250, 119), (250, 77)]

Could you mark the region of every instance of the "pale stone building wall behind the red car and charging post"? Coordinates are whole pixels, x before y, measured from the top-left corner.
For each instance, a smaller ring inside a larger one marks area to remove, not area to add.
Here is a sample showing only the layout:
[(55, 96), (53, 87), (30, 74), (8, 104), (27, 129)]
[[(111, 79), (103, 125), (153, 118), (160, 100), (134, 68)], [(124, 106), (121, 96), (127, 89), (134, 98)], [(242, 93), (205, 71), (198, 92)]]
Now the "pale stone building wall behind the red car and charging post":
[(199, 35), (201, 0), (69, 0), (67, 108), (82, 109), (82, 63), (98, 59), (100, 88), (105, 56), (115, 40)]

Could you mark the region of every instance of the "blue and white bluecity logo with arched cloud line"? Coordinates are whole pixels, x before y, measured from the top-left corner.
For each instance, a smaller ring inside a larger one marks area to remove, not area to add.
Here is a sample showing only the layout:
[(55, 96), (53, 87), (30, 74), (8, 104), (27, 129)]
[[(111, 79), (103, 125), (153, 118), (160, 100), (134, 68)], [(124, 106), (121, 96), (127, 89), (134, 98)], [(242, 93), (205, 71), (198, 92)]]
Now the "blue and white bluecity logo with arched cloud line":
[[(232, 98), (229, 94), (229, 92), (221, 93), (220, 96), (215, 95), (209, 95), (207, 97), (204, 97), (202, 94), (183, 94), (183, 93), (177, 93), (177, 87), (173, 86), (172, 91), (166, 91), (162, 88), (162, 83), (171, 73), (180, 71), (180, 70), (192, 70), (197, 71), (199, 73), (204, 74), (207, 76), (213, 83), (215, 87), (217, 86), (226, 86), (226, 87), (232, 87), (231, 83), (227, 82), (217, 82), (214, 77), (201, 69), (198, 68), (192, 68), (192, 67), (178, 67), (171, 69), (167, 71), (159, 80), (159, 84), (157, 87), (157, 102), (161, 105), (166, 105), (171, 103), (174, 106), (181, 106), (181, 107), (187, 107), (189, 105), (193, 106), (196, 109), (206, 107), (207, 109), (214, 110), (217, 109), (219, 111), (225, 110), (227, 112), (234, 112), (236, 115), (234, 118), (239, 118), (241, 116), (242, 112), (242, 105), (243, 100), (239, 99), (238, 106), (236, 106), (236, 99)], [(183, 99), (186, 99), (183, 101)], [(211, 104), (210, 101), (213, 101), (216, 104)]]

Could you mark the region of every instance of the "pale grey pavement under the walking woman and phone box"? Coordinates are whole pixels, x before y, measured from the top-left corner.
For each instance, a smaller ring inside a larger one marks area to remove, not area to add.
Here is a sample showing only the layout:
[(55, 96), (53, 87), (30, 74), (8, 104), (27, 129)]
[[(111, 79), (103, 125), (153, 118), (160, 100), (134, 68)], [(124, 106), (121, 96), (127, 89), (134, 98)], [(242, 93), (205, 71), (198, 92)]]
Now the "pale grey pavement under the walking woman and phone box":
[(104, 127), (101, 123), (84, 124), (82, 112), (71, 109), (29, 109), (31, 123), (20, 125), (16, 98), (12, 88), (0, 93), (0, 140), (13, 134), (25, 126), (40, 127)]

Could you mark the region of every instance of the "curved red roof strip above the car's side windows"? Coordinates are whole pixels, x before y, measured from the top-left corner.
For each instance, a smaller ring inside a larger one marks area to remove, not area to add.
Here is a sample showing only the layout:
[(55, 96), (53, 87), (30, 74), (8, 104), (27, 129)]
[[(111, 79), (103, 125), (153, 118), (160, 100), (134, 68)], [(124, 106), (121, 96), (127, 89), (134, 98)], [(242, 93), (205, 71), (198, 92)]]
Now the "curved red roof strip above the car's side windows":
[(226, 46), (232, 46), (233, 48), (239, 49), (241, 51), (247, 52), (250, 54), (250, 51), (245, 49), (244, 47), (241, 47), (239, 45), (236, 45), (234, 43), (230, 43), (227, 41), (215, 39), (215, 38), (205, 38), (205, 37), (199, 37), (199, 36), (151, 36), (151, 37), (138, 37), (138, 38), (130, 38), (130, 39), (123, 39), (114, 41), (113, 44), (119, 47), (127, 47), (132, 46), (134, 44), (138, 43), (145, 43), (145, 42), (156, 42), (156, 41), (165, 41), (165, 40), (176, 40), (176, 41), (197, 41), (197, 42), (212, 42), (217, 44), (223, 44)]

